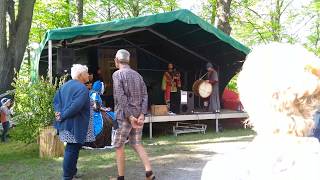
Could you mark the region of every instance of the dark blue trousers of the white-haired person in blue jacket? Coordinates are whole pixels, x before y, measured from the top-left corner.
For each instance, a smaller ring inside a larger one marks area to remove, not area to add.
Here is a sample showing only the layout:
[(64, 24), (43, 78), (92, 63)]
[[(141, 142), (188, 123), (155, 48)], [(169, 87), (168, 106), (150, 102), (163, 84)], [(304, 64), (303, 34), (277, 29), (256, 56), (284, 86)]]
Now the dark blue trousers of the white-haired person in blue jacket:
[(63, 158), (63, 179), (72, 179), (77, 174), (77, 162), (82, 144), (67, 143)]

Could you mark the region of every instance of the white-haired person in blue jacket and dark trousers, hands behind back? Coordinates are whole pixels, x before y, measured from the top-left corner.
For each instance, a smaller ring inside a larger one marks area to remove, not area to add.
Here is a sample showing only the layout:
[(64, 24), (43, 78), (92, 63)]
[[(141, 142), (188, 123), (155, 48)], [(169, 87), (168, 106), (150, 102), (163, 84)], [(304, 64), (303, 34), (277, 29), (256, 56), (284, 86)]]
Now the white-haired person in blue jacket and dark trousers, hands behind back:
[(55, 127), (67, 146), (63, 159), (63, 179), (73, 179), (77, 173), (79, 151), (87, 136), (90, 119), (89, 81), (87, 66), (74, 64), (72, 80), (66, 82), (54, 96)]

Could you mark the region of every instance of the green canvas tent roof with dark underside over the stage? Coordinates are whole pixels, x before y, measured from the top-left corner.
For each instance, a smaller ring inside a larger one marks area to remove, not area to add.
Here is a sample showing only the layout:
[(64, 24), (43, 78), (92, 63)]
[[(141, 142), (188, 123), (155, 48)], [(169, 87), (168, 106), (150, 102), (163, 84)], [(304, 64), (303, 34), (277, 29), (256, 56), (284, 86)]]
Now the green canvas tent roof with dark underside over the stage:
[(216, 29), (188, 10), (114, 20), (46, 32), (32, 66), (32, 76), (39, 72), (39, 60), (47, 53), (48, 41), (61, 47), (85, 48), (102, 44), (131, 44), (140, 50), (171, 61), (177, 66), (203, 68), (206, 62), (219, 67), (221, 86), (241, 68), (250, 49)]

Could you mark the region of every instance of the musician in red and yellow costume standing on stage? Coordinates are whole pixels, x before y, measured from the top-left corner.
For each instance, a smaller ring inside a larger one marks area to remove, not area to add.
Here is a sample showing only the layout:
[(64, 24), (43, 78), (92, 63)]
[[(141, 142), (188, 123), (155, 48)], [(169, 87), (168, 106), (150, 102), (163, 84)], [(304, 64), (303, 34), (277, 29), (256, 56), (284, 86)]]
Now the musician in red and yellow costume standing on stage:
[(162, 78), (162, 90), (164, 91), (164, 100), (170, 108), (171, 93), (177, 93), (181, 88), (180, 73), (173, 69), (173, 64), (168, 64), (168, 71), (166, 71)]

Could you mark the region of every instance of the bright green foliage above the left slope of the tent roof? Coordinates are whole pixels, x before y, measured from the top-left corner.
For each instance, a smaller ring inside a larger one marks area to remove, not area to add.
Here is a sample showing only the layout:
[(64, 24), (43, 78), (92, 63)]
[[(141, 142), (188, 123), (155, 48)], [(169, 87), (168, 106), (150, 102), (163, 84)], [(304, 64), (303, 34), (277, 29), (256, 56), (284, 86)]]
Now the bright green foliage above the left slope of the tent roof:
[[(142, 16), (178, 8), (177, 0), (84, 0), (83, 23)], [(31, 42), (40, 42), (47, 30), (76, 25), (74, 0), (37, 0), (30, 32)]]

